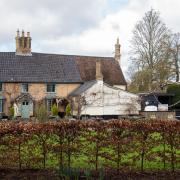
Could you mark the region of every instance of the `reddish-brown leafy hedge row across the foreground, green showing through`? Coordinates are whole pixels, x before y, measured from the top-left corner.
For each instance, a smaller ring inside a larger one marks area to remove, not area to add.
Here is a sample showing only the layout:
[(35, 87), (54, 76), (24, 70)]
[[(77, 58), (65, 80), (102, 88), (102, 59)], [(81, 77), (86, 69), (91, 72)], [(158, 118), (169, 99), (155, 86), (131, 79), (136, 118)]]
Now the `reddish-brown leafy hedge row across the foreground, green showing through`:
[(1, 122), (0, 166), (180, 169), (180, 121)]

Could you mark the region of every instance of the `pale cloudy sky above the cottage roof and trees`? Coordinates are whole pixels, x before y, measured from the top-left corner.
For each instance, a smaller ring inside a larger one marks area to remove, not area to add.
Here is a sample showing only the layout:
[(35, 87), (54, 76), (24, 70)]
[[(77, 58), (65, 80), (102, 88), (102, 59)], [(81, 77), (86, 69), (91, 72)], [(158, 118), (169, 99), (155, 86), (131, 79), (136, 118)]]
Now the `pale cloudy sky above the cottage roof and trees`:
[(0, 0), (0, 51), (15, 51), (17, 29), (30, 31), (32, 51), (44, 53), (114, 56), (119, 37), (127, 77), (132, 30), (151, 8), (180, 32), (180, 0)]

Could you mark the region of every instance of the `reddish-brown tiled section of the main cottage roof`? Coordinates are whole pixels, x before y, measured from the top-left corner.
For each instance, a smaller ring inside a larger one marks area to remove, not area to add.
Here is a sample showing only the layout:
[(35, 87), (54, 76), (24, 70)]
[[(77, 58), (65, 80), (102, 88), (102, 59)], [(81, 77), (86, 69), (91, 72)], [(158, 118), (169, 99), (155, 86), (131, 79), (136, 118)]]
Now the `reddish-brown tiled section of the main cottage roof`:
[(101, 61), (104, 82), (110, 85), (127, 85), (119, 63), (112, 57), (76, 56), (83, 81), (96, 79), (96, 61)]

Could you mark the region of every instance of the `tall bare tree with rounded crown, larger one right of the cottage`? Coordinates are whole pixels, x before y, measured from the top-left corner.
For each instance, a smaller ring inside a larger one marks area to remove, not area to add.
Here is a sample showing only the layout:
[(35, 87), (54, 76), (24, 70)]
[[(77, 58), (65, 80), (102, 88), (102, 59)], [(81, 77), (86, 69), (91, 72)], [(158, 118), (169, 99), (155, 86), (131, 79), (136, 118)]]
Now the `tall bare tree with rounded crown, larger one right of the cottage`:
[[(153, 9), (145, 13), (133, 31), (132, 60), (137, 72), (146, 72), (144, 90), (159, 90), (170, 75), (170, 31)], [(141, 73), (142, 74), (142, 73)]]

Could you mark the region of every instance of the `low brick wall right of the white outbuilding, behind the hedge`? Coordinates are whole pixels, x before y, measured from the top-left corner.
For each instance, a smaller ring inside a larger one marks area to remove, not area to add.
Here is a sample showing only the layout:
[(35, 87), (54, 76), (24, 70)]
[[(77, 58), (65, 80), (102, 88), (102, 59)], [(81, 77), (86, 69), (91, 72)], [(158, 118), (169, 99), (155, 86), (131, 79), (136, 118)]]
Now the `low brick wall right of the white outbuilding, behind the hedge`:
[(140, 111), (140, 114), (148, 119), (175, 119), (174, 111)]

